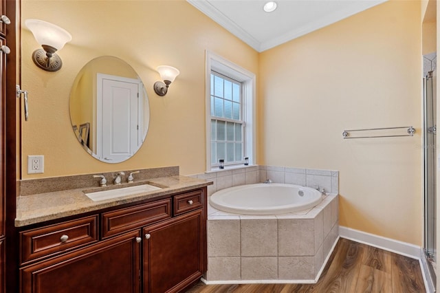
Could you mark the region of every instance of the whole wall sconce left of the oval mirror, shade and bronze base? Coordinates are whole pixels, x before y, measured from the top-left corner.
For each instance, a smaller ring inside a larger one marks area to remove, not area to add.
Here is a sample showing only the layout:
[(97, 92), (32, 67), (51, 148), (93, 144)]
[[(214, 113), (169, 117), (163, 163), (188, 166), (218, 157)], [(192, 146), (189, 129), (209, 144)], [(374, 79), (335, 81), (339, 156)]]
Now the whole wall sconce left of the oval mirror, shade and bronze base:
[(39, 19), (26, 19), (25, 25), (34, 34), (36, 41), (43, 47), (32, 54), (35, 65), (48, 72), (56, 72), (63, 65), (60, 56), (55, 54), (65, 43), (72, 41), (72, 36), (58, 25)]

